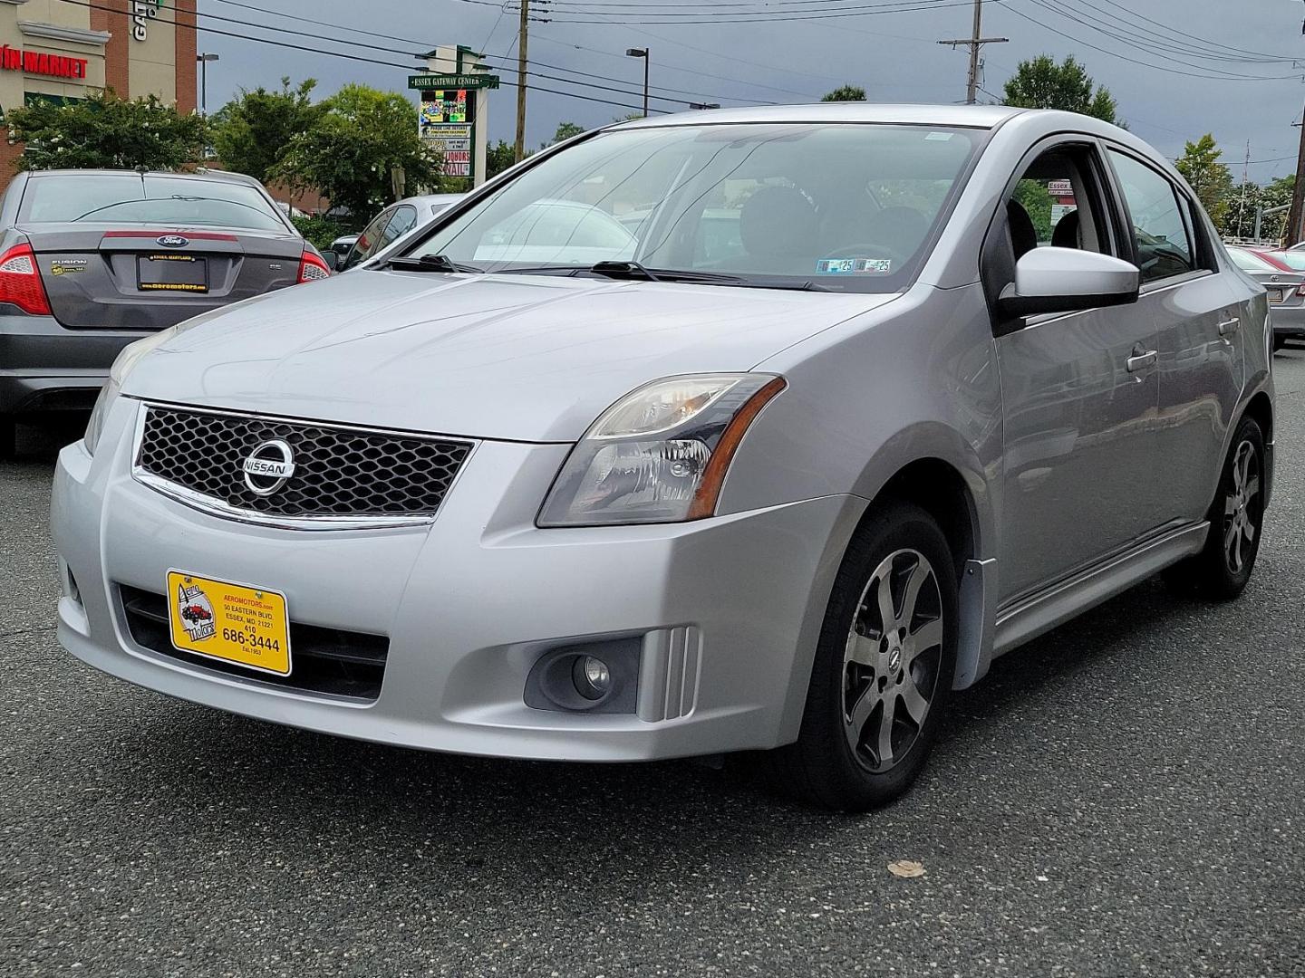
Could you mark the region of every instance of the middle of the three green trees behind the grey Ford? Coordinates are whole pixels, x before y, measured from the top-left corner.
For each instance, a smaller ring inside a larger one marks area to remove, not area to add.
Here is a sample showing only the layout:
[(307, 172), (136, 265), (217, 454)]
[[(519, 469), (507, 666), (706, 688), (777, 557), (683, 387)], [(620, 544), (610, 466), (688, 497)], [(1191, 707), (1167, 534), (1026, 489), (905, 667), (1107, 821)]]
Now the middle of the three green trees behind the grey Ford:
[(313, 104), (316, 78), (290, 87), (281, 80), (281, 91), (241, 89), (240, 95), (213, 115), (213, 147), (222, 166), (266, 183), (291, 140), (309, 132), (325, 107)]

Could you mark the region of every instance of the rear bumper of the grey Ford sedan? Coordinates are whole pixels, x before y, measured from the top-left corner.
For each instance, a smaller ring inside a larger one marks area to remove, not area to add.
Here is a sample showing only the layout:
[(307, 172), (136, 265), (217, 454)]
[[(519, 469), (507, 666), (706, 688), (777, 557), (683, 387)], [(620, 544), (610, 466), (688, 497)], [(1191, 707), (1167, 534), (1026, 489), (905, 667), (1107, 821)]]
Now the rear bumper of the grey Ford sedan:
[(0, 415), (90, 409), (114, 359), (149, 330), (69, 330), (50, 316), (0, 316)]

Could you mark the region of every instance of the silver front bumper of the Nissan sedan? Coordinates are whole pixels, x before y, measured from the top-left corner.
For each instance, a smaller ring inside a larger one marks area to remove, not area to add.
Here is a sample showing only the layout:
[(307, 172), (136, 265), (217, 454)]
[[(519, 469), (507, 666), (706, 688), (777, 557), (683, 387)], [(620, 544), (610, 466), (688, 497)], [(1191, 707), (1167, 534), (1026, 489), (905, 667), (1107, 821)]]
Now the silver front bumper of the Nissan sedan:
[[(59, 640), (90, 665), (235, 713), (463, 754), (643, 760), (796, 738), (820, 623), (864, 499), (676, 526), (538, 529), (569, 446), (482, 442), (427, 527), (254, 527), (132, 479), (127, 432), (138, 408), (120, 398), (95, 459), (82, 442), (68, 446), (55, 479), (55, 541), (76, 580), (59, 602)], [(377, 698), (287, 690), (136, 644), (119, 587), (162, 592), (170, 567), (281, 589), (296, 622), (389, 636)], [(613, 636), (639, 642), (637, 713), (526, 705), (542, 656)]]

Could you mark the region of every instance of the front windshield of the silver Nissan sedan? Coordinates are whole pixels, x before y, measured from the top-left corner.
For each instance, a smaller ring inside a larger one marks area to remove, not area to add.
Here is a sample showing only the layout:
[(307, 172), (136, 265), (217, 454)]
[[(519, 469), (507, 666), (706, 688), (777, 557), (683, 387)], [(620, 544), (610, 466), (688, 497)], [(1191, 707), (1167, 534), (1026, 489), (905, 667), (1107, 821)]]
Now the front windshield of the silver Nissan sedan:
[(898, 291), (983, 136), (868, 124), (616, 129), (527, 170), (407, 257), (559, 274), (639, 262), (727, 284)]

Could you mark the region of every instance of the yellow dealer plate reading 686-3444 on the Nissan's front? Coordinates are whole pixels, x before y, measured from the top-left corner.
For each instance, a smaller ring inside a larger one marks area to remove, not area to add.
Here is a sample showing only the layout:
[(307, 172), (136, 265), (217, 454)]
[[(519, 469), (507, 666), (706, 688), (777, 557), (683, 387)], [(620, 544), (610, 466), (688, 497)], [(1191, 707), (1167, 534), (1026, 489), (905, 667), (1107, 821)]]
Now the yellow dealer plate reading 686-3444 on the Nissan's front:
[(170, 570), (167, 593), (180, 652), (290, 675), (290, 618), (279, 591)]

